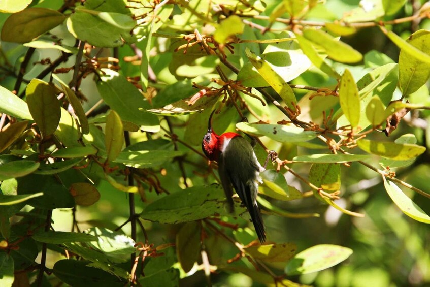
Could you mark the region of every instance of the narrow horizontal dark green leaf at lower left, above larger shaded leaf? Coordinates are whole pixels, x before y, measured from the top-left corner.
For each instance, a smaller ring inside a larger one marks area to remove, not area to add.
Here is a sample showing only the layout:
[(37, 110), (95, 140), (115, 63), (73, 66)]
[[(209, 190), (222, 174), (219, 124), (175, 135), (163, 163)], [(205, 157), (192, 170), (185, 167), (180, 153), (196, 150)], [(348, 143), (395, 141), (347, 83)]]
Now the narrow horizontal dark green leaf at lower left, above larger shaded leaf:
[(44, 231), (37, 233), (31, 237), (36, 241), (51, 244), (98, 241), (98, 238), (93, 235), (63, 231)]

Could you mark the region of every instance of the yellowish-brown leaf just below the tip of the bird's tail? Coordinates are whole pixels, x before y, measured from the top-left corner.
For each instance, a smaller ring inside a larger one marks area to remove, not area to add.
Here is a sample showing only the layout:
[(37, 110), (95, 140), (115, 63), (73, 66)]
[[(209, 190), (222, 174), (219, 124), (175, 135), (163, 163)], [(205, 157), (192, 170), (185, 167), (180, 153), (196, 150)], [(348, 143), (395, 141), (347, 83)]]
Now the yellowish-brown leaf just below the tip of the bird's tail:
[(245, 247), (244, 251), (253, 259), (264, 262), (286, 262), (290, 260), (297, 246), (294, 243), (267, 244)]

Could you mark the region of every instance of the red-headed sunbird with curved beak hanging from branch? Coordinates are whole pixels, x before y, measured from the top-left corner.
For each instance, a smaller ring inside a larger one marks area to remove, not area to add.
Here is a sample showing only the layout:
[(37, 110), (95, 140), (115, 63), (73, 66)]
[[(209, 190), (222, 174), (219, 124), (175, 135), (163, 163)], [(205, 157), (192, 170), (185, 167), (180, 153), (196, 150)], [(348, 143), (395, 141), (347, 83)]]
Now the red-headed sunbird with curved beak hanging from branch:
[(218, 173), (228, 203), (228, 211), (234, 212), (233, 187), (248, 210), (255, 232), (261, 243), (266, 241), (266, 231), (257, 205), (259, 173), (264, 171), (251, 144), (241, 135), (227, 132), (217, 135), (212, 129), (211, 113), (208, 131), (203, 137), (202, 150), (210, 161), (218, 163)]

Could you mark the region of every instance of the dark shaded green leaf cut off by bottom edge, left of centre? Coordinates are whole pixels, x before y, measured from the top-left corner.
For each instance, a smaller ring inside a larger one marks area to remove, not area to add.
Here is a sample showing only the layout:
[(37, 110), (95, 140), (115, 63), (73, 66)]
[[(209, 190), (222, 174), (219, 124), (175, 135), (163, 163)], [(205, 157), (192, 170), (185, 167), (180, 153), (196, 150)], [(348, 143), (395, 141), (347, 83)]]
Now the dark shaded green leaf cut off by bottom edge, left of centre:
[(126, 284), (126, 280), (90, 265), (90, 261), (63, 259), (55, 263), (52, 273), (71, 286), (121, 287)]

